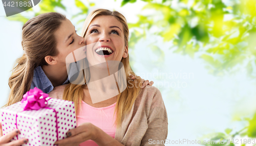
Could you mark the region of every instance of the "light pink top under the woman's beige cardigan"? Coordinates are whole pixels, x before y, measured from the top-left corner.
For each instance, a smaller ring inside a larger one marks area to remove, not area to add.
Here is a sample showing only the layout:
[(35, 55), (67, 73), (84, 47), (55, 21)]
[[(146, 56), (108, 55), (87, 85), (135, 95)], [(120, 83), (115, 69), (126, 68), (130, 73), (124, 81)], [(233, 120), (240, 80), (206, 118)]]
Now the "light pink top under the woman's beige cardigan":
[[(111, 137), (115, 138), (116, 125), (114, 125), (116, 120), (116, 115), (114, 116), (116, 103), (106, 106), (106, 107), (93, 107), (84, 101), (81, 103), (80, 114), (77, 115), (77, 126), (82, 123), (90, 122), (93, 125), (99, 127), (106, 134), (109, 134)], [(114, 125), (114, 126), (113, 126)], [(87, 140), (79, 144), (83, 145), (98, 145), (93, 140)]]

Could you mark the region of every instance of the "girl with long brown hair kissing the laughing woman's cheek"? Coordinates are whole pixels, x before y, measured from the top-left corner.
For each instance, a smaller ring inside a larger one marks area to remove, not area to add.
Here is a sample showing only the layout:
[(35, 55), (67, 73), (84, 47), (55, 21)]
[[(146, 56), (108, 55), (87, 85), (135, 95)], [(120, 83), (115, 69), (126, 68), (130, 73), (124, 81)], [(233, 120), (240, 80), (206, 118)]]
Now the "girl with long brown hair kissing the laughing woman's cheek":
[[(28, 20), (22, 32), (25, 53), (17, 60), (9, 78), (11, 91), (6, 106), (22, 100), (35, 86), (49, 93), (55, 86), (68, 83), (66, 56), (85, 45), (84, 38), (76, 34), (74, 25), (62, 14), (45, 13)], [(148, 83), (145, 81), (143, 85)], [(0, 133), (0, 145), (9, 142), (6, 139), (11, 139), (15, 133), (16, 130), (9, 136)], [(27, 139), (19, 140), (17, 145), (24, 140)]]

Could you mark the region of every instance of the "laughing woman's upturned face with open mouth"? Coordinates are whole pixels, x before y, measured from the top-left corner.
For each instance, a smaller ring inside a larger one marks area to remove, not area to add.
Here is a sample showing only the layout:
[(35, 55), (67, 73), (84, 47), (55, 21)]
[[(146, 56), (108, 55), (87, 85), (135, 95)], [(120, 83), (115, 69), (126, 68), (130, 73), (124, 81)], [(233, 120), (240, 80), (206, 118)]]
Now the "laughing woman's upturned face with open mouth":
[(114, 16), (97, 16), (88, 26), (86, 36), (87, 59), (90, 65), (106, 61), (121, 61), (127, 57), (123, 24)]

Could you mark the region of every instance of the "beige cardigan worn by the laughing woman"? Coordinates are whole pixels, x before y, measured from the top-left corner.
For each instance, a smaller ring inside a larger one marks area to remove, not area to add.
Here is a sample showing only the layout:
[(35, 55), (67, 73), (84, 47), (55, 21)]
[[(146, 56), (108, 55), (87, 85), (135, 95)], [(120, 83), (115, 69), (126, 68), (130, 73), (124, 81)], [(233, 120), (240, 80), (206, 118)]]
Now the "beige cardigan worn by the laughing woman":
[[(49, 96), (62, 99), (60, 91), (63, 93), (64, 88), (65, 85), (54, 88)], [(167, 112), (161, 93), (156, 87), (147, 85), (135, 100), (130, 113), (122, 117), (121, 128), (116, 129), (115, 139), (126, 146), (164, 145), (167, 133)], [(158, 140), (162, 140), (162, 144), (157, 144)]]

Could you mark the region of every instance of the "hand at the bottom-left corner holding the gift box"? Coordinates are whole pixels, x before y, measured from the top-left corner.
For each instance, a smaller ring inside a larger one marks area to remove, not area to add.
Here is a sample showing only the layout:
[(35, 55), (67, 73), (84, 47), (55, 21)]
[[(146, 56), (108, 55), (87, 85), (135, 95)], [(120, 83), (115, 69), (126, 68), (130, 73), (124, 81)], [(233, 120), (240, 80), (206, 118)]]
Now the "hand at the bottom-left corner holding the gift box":
[(10, 140), (16, 136), (19, 133), (18, 129), (14, 129), (13, 131), (7, 133), (6, 135), (3, 136), (2, 133), (2, 123), (0, 123), (0, 146), (8, 146), (8, 145), (22, 145), (28, 142), (28, 139), (22, 138), (18, 140), (11, 141)]

